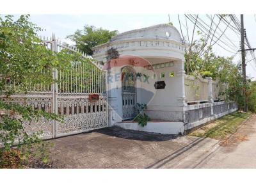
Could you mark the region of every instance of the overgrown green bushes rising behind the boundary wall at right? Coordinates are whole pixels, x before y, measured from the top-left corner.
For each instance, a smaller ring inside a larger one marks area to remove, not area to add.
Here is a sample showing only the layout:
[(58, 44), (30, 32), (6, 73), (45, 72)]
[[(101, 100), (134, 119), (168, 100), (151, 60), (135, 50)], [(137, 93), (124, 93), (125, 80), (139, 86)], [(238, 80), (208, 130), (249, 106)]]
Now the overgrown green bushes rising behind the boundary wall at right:
[[(202, 35), (200, 31), (198, 31), (198, 35), (201, 36), (200, 40), (194, 40), (189, 45), (189, 49), (186, 49), (186, 74), (200, 75), (204, 78), (212, 77), (214, 80), (218, 79), (222, 83), (227, 83), (227, 90), (220, 95), (225, 95), (226, 100), (236, 101), (239, 109), (242, 109), (244, 106), (244, 88), (241, 63), (234, 63), (233, 57), (218, 56), (212, 51), (211, 46), (207, 46), (207, 36)], [(246, 100), (250, 100), (249, 109), (255, 111), (255, 108), (253, 109), (253, 104), (256, 103), (255, 84), (249, 78), (247, 82)]]

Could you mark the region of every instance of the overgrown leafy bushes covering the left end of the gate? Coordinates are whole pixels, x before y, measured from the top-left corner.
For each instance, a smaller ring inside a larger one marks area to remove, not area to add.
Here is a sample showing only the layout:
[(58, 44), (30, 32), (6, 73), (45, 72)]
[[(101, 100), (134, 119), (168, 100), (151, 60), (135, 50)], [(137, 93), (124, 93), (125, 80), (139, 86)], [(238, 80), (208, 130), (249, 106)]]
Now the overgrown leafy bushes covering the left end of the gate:
[[(55, 82), (52, 79), (53, 68), (67, 68), (70, 61), (81, 57), (79, 54), (65, 51), (50, 51), (38, 38), (38, 31), (42, 29), (29, 22), (29, 15), (21, 15), (17, 20), (13, 20), (11, 15), (0, 17), (0, 143), (3, 145), (0, 148), (0, 167), (2, 168), (22, 167), (24, 162), (34, 155), (36, 159), (47, 163), (49, 145), (40, 139), (42, 131), (28, 134), (23, 124), (37, 122), (40, 118), (62, 120), (61, 116), (14, 102), (8, 103), (5, 100), (8, 100), (13, 93), (28, 93), (30, 86), (38, 83), (51, 85)], [(15, 141), (17, 147), (13, 149), (11, 147)], [(40, 155), (36, 157), (38, 153)]]

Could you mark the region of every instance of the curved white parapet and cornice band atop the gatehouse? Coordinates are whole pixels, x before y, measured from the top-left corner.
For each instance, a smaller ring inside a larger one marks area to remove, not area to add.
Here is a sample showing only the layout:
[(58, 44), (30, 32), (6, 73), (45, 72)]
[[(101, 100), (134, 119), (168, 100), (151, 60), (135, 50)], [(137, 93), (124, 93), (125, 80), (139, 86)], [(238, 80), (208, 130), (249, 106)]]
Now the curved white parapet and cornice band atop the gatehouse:
[(179, 31), (168, 24), (134, 29), (116, 35), (108, 43), (93, 47), (93, 58), (106, 62), (106, 52), (111, 47), (118, 49), (121, 56), (183, 59), (185, 52)]

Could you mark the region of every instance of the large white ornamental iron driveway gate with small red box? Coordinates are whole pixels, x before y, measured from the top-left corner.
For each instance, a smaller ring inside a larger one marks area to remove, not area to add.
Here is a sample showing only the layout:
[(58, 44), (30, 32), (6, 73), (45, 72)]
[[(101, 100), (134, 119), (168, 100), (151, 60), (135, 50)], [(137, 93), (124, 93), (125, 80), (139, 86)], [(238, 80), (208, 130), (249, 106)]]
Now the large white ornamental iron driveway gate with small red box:
[[(51, 51), (67, 49), (88, 58), (76, 48), (58, 42), (54, 35), (49, 40), (47, 38), (42, 41)], [(29, 134), (42, 131), (42, 138), (49, 139), (108, 127), (107, 72), (96, 61), (91, 60), (74, 61), (69, 67), (68, 71), (57, 68), (52, 70), (52, 77), (58, 82), (51, 86), (37, 84), (26, 95), (17, 94), (8, 98), (0, 96), (6, 102), (32, 106), (33, 109), (43, 109), (64, 116), (64, 123), (44, 118), (38, 122), (24, 122)], [(92, 95), (93, 100), (90, 99)]]

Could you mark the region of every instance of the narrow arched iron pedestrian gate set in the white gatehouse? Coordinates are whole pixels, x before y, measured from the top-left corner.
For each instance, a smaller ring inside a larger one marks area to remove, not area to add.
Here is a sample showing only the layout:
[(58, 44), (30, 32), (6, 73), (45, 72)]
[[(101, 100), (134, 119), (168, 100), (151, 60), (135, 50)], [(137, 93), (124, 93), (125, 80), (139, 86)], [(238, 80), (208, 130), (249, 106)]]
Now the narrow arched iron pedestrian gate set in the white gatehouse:
[(136, 116), (136, 74), (131, 67), (122, 68), (123, 120)]

